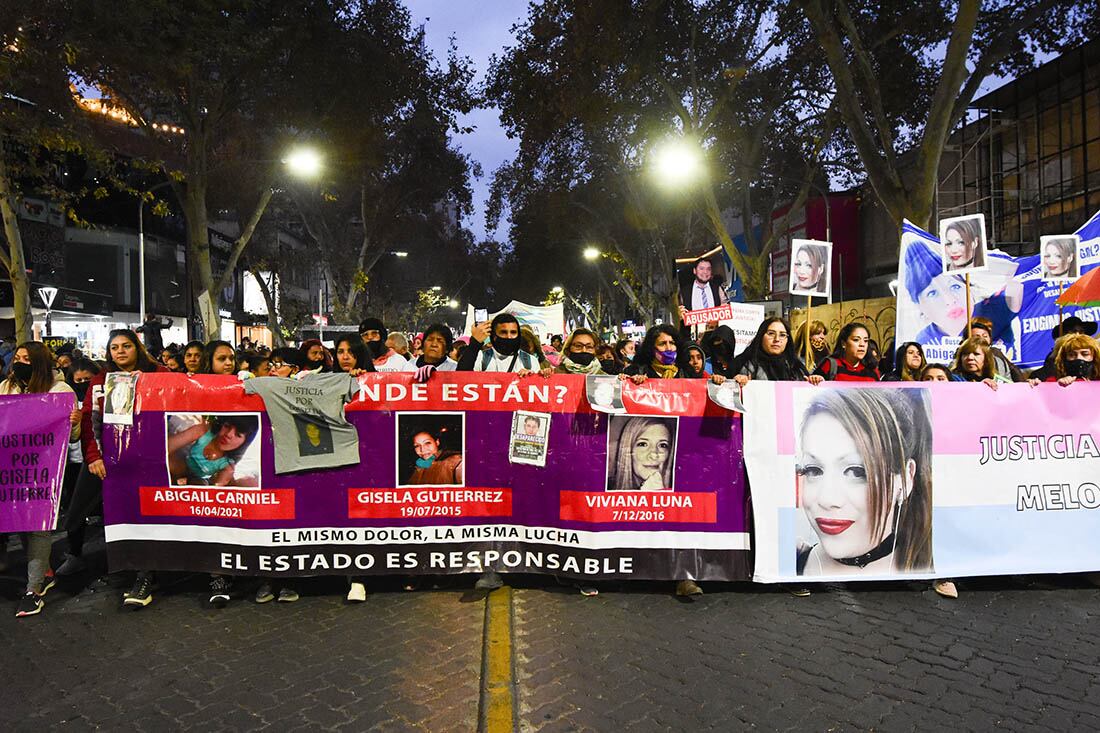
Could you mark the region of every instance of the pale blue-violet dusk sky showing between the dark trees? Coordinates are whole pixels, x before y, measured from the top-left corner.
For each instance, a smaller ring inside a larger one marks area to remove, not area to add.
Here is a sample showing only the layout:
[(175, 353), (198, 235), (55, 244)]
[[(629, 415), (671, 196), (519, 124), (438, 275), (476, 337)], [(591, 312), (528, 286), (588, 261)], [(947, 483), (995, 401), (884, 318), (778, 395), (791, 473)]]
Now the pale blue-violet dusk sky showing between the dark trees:
[[(414, 24), (425, 24), (428, 46), (436, 57), (447, 61), (447, 46), (451, 35), (455, 37), (459, 53), (469, 56), (476, 72), (475, 84), (481, 85), (488, 68), (488, 57), (513, 42), (510, 29), (527, 17), (527, 0), (482, 0), (481, 2), (457, 2), (455, 0), (405, 0), (413, 15)], [(474, 161), (481, 163), (484, 175), (472, 180), (474, 192), (474, 215), (466, 226), (481, 240), (485, 237), (485, 201), (493, 171), (516, 153), (515, 141), (508, 140), (501, 128), (501, 119), (495, 109), (480, 109), (463, 118), (462, 122), (476, 128), (468, 135), (459, 135), (458, 144)], [(493, 236), (493, 232), (488, 232)], [(507, 227), (502, 226), (495, 234), (507, 237)]]

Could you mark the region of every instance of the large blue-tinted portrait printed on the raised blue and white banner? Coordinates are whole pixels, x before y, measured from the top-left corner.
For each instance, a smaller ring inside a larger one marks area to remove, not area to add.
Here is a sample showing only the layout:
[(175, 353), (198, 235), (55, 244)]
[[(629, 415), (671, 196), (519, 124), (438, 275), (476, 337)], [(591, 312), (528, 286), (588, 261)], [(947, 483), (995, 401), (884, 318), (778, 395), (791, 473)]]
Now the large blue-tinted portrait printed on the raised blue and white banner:
[[(942, 260), (923, 241), (913, 241), (905, 249), (905, 292), (927, 321), (915, 341), (925, 348), (938, 346), (945, 338), (961, 339), (966, 333), (966, 281), (942, 271)], [(1015, 348), (1013, 321), (1023, 303), (1023, 284), (1009, 280), (998, 292), (985, 296), (980, 286), (971, 284), (972, 316), (993, 325), (993, 343), (1005, 351)]]

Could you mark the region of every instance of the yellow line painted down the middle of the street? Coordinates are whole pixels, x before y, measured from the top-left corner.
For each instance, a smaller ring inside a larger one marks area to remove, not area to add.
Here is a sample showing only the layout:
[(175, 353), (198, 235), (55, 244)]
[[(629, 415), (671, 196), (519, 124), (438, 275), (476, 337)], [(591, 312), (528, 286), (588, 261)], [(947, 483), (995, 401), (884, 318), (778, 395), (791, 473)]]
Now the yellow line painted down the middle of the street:
[(485, 598), (482, 635), (480, 733), (516, 731), (516, 675), (512, 644), (512, 589), (505, 586)]

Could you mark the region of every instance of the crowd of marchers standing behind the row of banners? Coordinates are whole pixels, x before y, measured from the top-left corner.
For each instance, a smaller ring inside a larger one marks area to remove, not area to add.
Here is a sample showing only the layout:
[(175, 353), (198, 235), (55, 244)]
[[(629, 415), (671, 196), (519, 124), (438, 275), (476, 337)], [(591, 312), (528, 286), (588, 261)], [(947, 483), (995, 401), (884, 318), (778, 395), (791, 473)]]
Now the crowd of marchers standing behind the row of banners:
[[(779, 317), (765, 319), (756, 336), (739, 351), (736, 337), (726, 326), (705, 330), (697, 342), (686, 329), (670, 325), (650, 328), (640, 342), (619, 339), (606, 342), (595, 331), (578, 328), (569, 335), (554, 336), (543, 346), (538, 335), (509, 314), (499, 314), (491, 321), (476, 324), (471, 332), (455, 338), (450, 327), (433, 324), (422, 332), (391, 332), (378, 318), (365, 318), (356, 333), (334, 339), (333, 347), (320, 340), (307, 339), (298, 347), (268, 349), (249, 339), (233, 346), (228, 341), (190, 341), (186, 344), (161, 342), (161, 329), (166, 325), (146, 320), (141, 330), (118, 329), (110, 332), (105, 358), (89, 359), (78, 349), (63, 347), (56, 353), (41, 342), (15, 344), (6, 341), (0, 349), (3, 379), (0, 394), (61, 392), (73, 395), (70, 415), (69, 464), (64, 477), (61, 529), (67, 536), (64, 561), (52, 570), (51, 532), (29, 533), (23, 538), (26, 553), (26, 591), (19, 602), (16, 615), (38, 613), (46, 592), (58, 576), (82, 572), (85, 534), (89, 519), (102, 514), (102, 480), (107, 467), (101, 449), (103, 384), (110, 372), (179, 372), (186, 374), (235, 374), (252, 376), (302, 378), (311, 372), (414, 372), (418, 381), (427, 381), (435, 371), (510, 372), (520, 376), (550, 374), (609, 374), (644, 383), (650, 379), (706, 379), (715, 383), (734, 380), (745, 385), (752, 380), (805, 381), (936, 381), (981, 382), (992, 390), (999, 384), (1027, 381), (1057, 382), (1069, 386), (1078, 381), (1100, 380), (1100, 347), (1092, 338), (1094, 322), (1070, 316), (1054, 329), (1055, 346), (1046, 362), (1030, 374), (1022, 373), (999, 349), (992, 346), (992, 325), (975, 318), (967, 338), (958, 347), (953, 363), (928, 363), (921, 344), (905, 342), (884, 350), (871, 338), (871, 330), (860, 322), (844, 325), (835, 341), (821, 321), (803, 324), (792, 331)], [(226, 435), (223, 436), (222, 433)], [(184, 460), (193, 461), (195, 470), (206, 471), (211, 480), (231, 470), (227, 456), (240, 448), (241, 440), (251, 439), (248, 426), (226, 424), (206, 430), (198, 429)], [(194, 445), (193, 445), (194, 444)], [(200, 445), (201, 444), (201, 445)], [(195, 446), (199, 446), (197, 449)], [(194, 456), (191, 453), (195, 453)], [(180, 469), (184, 470), (184, 469)], [(905, 517), (899, 517), (901, 522)], [(7, 564), (8, 538), (0, 541), (0, 564)], [(139, 572), (123, 603), (142, 608), (152, 601), (153, 573)], [(223, 605), (231, 598), (232, 579), (212, 576), (209, 601)], [(487, 571), (477, 579), (480, 589), (503, 584), (496, 572)], [(937, 592), (956, 597), (949, 580), (935, 582)], [(588, 587), (582, 592), (593, 593)], [(694, 579), (683, 578), (676, 593), (693, 597), (702, 593)], [(809, 594), (794, 588), (796, 595)], [(366, 598), (365, 579), (349, 580), (349, 601)], [(256, 592), (257, 602), (297, 599), (289, 588), (278, 593), (267, 583)]]

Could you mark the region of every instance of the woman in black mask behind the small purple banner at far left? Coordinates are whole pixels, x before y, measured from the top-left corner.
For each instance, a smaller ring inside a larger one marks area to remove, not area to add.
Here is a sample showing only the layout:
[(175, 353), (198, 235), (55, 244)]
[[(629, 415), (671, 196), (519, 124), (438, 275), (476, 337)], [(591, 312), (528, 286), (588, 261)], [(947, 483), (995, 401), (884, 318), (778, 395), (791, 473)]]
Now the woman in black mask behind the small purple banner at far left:
[[(73, 387), (54, 371), (54, 355), (43, 343), (26, 341), (15, 347), (8, 379), (0, 382), (0, 395), (40, 394), (59, 392), (70, 396), (69, 440), (80, 437), (80, 411)], [(74, 466), (69, 470), (79, 468)], [(23, 535), (26, 548), (26, 591), (15, 609), (16, 616), (33, 616), (42, 611), (43, 597), (54, 586), (50, 570), (50, 550), (53, 547), (51, 530), (29, 532)]]

